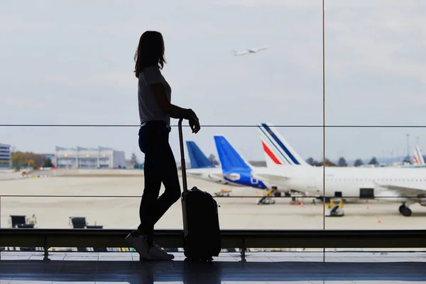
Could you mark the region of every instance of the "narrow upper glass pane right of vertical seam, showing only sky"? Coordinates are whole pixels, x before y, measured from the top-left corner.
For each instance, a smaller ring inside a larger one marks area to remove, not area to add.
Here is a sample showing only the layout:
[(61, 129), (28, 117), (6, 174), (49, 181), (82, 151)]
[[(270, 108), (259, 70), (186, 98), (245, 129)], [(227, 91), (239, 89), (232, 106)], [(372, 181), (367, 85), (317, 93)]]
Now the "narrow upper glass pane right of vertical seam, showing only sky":
[(425, 121), (424, 3), (325, 1), (325, 5), (327, 125)]

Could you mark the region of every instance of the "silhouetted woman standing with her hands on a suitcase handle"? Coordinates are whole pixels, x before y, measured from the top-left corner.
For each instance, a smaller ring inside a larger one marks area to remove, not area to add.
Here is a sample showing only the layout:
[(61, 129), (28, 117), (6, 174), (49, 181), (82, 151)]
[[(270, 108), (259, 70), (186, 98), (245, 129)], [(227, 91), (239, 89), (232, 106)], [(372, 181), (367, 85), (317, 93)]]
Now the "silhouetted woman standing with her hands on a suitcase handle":
[[(145, 188), (139, 209), (141, 224), (137, 231), (126, 236), (126, 241), (143, 259), (173, 259), (172, 254), (166, 253), (153, 241), (155, 223), (180, 198), (178, 168), (168, 142), (170, 117), (187, 119), (192, 133), (200, 131), (200, 123), (192, 109), (183, 109), (170, 103), (172, 90), (160, 72), (165, 63), (161, 33), (143, 33), (134, 60), (141, 119), (139, 148), (145, 153)], [(161, 182), (165, 192), (158, 197)]]

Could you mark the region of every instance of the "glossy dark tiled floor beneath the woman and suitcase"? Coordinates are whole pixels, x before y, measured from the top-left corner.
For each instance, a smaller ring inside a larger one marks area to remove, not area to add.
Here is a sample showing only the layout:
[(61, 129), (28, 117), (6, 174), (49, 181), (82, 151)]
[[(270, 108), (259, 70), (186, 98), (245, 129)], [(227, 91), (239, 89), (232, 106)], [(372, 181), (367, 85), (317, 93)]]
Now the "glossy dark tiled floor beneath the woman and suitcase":
[(221, 253), (210, 263), (137, 253), (1, 253), (0, 283), (426, 283), (425, 253)]

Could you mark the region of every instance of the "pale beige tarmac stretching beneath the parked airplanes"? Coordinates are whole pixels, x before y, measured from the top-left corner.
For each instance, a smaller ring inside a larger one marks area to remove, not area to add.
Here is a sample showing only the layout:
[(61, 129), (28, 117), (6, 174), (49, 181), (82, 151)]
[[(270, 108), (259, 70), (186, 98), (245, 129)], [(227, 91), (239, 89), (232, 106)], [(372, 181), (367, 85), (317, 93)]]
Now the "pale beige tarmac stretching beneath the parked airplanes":
[[(290, 198), (275, 197), (275, 204), (256, 204), (262, 190), (226, 187), (188, 178), (188, 187), (212, 193), (231, 190), (230, 197), (217, 197), (221, 229), (425, 229), (426, 207), (414, 204), (411, 217), (398, 212), (398, 202), (365, 201), (344, 204), (344, 217), (324, 217), (326, 208), (312, 198), (290, 205)], [(161, 190), (163, 192), (163, 189)], [(36, 218), (37, 228), (71, 228), (70, 217), (86, 217), (87, 223), (104, 229), (138, 226), (143, 175), (48, 176), (0, 182), (0, 227), (10, 227), (11, 215)], [(18, 196), (17, 196), (18, 195)], [(22, 196), (25, 195), (25, 196)], [(181, 229), (180, 201), (156, 224), (156, 229)]]

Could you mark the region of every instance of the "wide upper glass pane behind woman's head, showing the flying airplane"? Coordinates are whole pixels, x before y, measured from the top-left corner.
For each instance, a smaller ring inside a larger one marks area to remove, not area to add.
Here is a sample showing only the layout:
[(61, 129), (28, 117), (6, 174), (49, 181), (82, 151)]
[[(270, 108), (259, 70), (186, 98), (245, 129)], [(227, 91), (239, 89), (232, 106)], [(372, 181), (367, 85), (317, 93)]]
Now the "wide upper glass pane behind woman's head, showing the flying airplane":
[[(146, 29), (163, 33), (172, 101), (195, 109), (202, 124), (313, 124), (322, 115), (316, 0), (94, 1), (84, 9), (28, 1), (2, 12), (0, 84), (10, 97), (0, 119), (9, 124), (138, 124), (133, 55)], [(22, 66), (37, 66), (25, 86)]]

